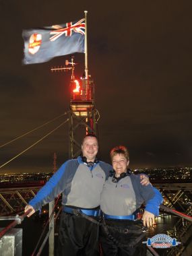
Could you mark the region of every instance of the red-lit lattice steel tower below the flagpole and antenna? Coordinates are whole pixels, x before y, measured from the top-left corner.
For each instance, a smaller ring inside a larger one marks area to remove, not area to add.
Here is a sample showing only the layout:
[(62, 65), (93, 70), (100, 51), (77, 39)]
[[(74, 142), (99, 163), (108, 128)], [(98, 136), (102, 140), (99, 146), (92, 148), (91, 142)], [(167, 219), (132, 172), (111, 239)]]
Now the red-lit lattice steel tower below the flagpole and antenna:
[(94, 82), (90, 76), (71, 80), (70, 88), (69, 158), (75, 158), (81, 151), (82, 137), (86, 133), (96, 134), (98, 110), (94, 105)]

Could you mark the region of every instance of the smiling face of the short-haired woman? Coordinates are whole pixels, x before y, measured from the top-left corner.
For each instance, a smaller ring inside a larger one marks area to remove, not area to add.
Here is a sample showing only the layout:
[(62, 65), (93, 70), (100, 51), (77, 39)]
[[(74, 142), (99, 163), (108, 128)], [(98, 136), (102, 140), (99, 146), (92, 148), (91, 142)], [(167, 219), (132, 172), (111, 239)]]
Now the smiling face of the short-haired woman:
[(115, 170), (115, 176), (119, 177), (122, 172), (127, 172), (127, 166), (129, 161), (123, 156), (123, 154), (117, 154), (112, 159), (113, 170)]

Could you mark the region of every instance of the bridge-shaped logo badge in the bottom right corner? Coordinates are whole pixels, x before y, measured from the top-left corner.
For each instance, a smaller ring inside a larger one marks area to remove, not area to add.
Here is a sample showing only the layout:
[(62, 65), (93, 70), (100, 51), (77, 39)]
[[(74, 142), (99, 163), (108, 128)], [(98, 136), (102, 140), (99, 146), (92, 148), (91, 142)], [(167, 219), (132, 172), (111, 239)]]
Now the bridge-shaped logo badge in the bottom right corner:
[(156, 234), (142, 243), (154, 248), (170, 248), (181, 244), (181, 242), (177, 242), (176, 238), (171, 238), (167, 234)]

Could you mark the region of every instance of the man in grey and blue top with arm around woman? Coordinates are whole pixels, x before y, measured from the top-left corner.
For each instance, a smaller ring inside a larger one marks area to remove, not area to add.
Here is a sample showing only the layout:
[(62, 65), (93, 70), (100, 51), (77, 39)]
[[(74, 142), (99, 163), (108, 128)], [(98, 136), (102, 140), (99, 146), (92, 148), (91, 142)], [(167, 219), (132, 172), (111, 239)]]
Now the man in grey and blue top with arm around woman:
[[(65, 162), (26, 205), (25, 212), (31, 210), (29, 217), (62, 193), (59, 256), (99, 255), (98, 226), (73, 214), (74, 209), (79, 209), (93, 218), (100, 216), (100, 195), (112, 166), (96, 160), (97, 153), (97, 137), (86, 135), (82, 142), (82, 157)], [(141, 181), (142, 185), (145, 183), (145, 180)]]

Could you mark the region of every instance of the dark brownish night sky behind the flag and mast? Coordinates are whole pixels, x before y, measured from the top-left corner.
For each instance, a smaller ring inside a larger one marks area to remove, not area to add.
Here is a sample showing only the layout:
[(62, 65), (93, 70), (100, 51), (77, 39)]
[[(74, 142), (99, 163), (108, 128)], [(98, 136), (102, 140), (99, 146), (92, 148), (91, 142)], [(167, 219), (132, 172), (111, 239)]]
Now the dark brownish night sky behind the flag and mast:
[[(100, 113), (100, 156), (129, 148), (131, 168), (192, 164), (192, 3), (185, 1), (0, 0), (0, 146), (69, 109), (71, 73), (51, 73), (70, 56), (22, 65), (22, 30), (84, 18), (88, 69)], [(78, 77), (84, 54), (75, 53)], [(0, 164), (64, 119), (0, 148)], [(3, 172), (53, 170), (68, 156), (68, 125), (13, 160)]]

